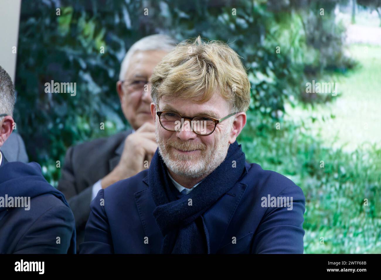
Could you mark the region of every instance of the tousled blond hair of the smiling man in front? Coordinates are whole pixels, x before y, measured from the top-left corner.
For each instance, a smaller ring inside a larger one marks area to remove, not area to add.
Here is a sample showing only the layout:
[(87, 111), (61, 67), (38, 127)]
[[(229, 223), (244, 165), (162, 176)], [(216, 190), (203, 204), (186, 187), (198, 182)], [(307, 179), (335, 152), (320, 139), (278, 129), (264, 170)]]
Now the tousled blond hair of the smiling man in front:
[(226, 43), (202, 42), (200, 36), (176, 46), (155, 67), (152, 101), (162, 97), (209, 101), (216, 91), (231, 104), (232, 112), (244, 112), (250, 104), (250, 82), (238, 54)]

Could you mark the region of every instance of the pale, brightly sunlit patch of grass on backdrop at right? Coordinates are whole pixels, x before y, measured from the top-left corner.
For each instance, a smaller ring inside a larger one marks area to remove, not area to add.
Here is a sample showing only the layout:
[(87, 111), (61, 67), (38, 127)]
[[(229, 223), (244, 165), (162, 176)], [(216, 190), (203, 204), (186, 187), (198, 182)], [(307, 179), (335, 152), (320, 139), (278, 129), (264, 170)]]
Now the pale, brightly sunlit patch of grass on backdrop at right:
[(285, 104), (288, 118), (322, 139), (324, 146), (347, 152), (365, 141), (381, 144), (381, 46), (356, 44), (349, 51), (360, 64), (345, 75), (332, 77), (338, 81), (341, 96), (314, 108)]

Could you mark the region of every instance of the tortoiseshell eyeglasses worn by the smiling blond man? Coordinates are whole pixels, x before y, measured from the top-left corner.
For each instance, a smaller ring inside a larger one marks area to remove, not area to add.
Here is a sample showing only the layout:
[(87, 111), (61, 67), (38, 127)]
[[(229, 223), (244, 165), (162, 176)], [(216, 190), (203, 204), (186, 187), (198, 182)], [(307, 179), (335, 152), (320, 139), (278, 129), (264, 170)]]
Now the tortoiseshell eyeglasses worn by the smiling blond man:
[[(237, 112), (227, 115), (221, 119), (197, 115), (195, 117), (182, 116), (178, 113), (169, 112), (169, 111), (158, 111), (156, 114), (159, 117), (160, 125), (165, 130), (168, 131), (180, 131), (180, 130), (189, 130), (194, 131), (199, 135), (210, 135), (215, 131), (216, 125), (223, 120), (231, 117), (232, 115), (237, 114)], [(190, 127), (187, 127), (187, 124), (184, 125), (184, 118), (190, 120)]]

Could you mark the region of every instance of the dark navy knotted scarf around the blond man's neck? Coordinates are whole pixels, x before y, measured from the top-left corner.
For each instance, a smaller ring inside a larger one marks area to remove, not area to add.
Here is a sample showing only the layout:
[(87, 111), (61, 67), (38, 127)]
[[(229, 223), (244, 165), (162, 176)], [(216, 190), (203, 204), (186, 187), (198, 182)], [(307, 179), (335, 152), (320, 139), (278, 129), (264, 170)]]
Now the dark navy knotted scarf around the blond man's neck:
[(177, 199), (165, 163), (156, 150), (148, 176), (156, 205), (153, 214), (164, 237), (162, 253), (210, 253), (208, 230), (202, 214), (234, 186), (244, 168), (245, 154), (235, 141), (230, 144), (224, 161), (194, 190)]

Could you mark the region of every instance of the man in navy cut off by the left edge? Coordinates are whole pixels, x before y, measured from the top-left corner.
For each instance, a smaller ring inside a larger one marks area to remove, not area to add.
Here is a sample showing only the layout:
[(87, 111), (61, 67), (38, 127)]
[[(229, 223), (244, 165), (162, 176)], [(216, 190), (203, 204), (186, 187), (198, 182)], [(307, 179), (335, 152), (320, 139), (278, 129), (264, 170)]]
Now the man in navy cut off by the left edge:
[[(13, 131), (14, 102), (12, 80), (0, 66), (0, 147)], [(0, 150), (0, 254), (66, 254), (75, 248), (74, 216), (64, 195), (45, 180), (38, 163), (8, 162)]]

